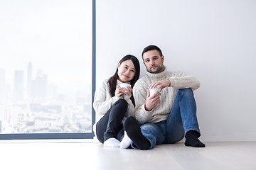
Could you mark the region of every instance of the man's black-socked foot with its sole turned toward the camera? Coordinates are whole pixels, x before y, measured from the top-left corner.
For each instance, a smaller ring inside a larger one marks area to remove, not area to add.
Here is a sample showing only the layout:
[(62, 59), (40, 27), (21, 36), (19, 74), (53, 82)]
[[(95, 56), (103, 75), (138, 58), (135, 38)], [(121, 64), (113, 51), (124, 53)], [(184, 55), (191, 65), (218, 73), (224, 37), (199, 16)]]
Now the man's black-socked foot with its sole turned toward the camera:
[(139, 149), (146, 150), (150, 148), (149, 140), (142, 135), (139, 124), (134, 117), (129, 116), (124, 120), (124, 130)]

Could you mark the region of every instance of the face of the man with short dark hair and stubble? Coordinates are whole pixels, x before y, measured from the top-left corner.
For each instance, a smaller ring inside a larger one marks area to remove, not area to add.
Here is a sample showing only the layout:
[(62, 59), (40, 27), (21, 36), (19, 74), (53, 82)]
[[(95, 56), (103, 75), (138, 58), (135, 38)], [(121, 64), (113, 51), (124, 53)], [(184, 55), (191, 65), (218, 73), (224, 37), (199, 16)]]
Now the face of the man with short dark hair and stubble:
[(143, 54), (143, 62), (146, 70), (150, 73), (160, 73), (164, 71), (164, 55), (160, 56), (157, 50), (151, 50)]

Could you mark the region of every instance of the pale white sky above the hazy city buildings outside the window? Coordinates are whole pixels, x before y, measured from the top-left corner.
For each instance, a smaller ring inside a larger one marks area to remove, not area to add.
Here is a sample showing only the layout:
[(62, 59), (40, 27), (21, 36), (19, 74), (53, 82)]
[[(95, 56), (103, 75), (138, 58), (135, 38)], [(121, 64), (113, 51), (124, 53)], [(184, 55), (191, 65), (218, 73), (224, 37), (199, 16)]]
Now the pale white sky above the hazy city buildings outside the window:
[[(92, 1), (1, 0), (0, 69), (6, 84), (28, 62), (62, 89), (91, 82)], [(89, 74), (88, 74), (89, 73)], [(26, 77), (25, 77), (26, 79)]]

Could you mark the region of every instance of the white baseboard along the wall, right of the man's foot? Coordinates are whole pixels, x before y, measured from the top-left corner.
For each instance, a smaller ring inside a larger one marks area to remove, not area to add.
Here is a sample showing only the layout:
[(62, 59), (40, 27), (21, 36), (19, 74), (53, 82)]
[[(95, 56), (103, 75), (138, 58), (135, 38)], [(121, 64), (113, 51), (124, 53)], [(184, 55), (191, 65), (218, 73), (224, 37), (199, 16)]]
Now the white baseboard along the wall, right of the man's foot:
[(256, 142), (256, 135), (201, 135), (202, 142)]

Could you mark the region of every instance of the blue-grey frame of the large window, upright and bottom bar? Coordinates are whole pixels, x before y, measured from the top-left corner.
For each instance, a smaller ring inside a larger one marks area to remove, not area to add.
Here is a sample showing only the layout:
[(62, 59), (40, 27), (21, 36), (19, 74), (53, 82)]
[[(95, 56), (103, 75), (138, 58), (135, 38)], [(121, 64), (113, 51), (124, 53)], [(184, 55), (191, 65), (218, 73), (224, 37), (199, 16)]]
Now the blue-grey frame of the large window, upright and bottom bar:
[[(96, 62), (96, 0), (92, 0), (92, 103), (95, 94)], [(92, 107), (92, 132), (90, 133), (11, 133), (0, 134), (0, 140), (57, 140), (57, 139), (92, 139), (95, 135), (95, 111)]]

